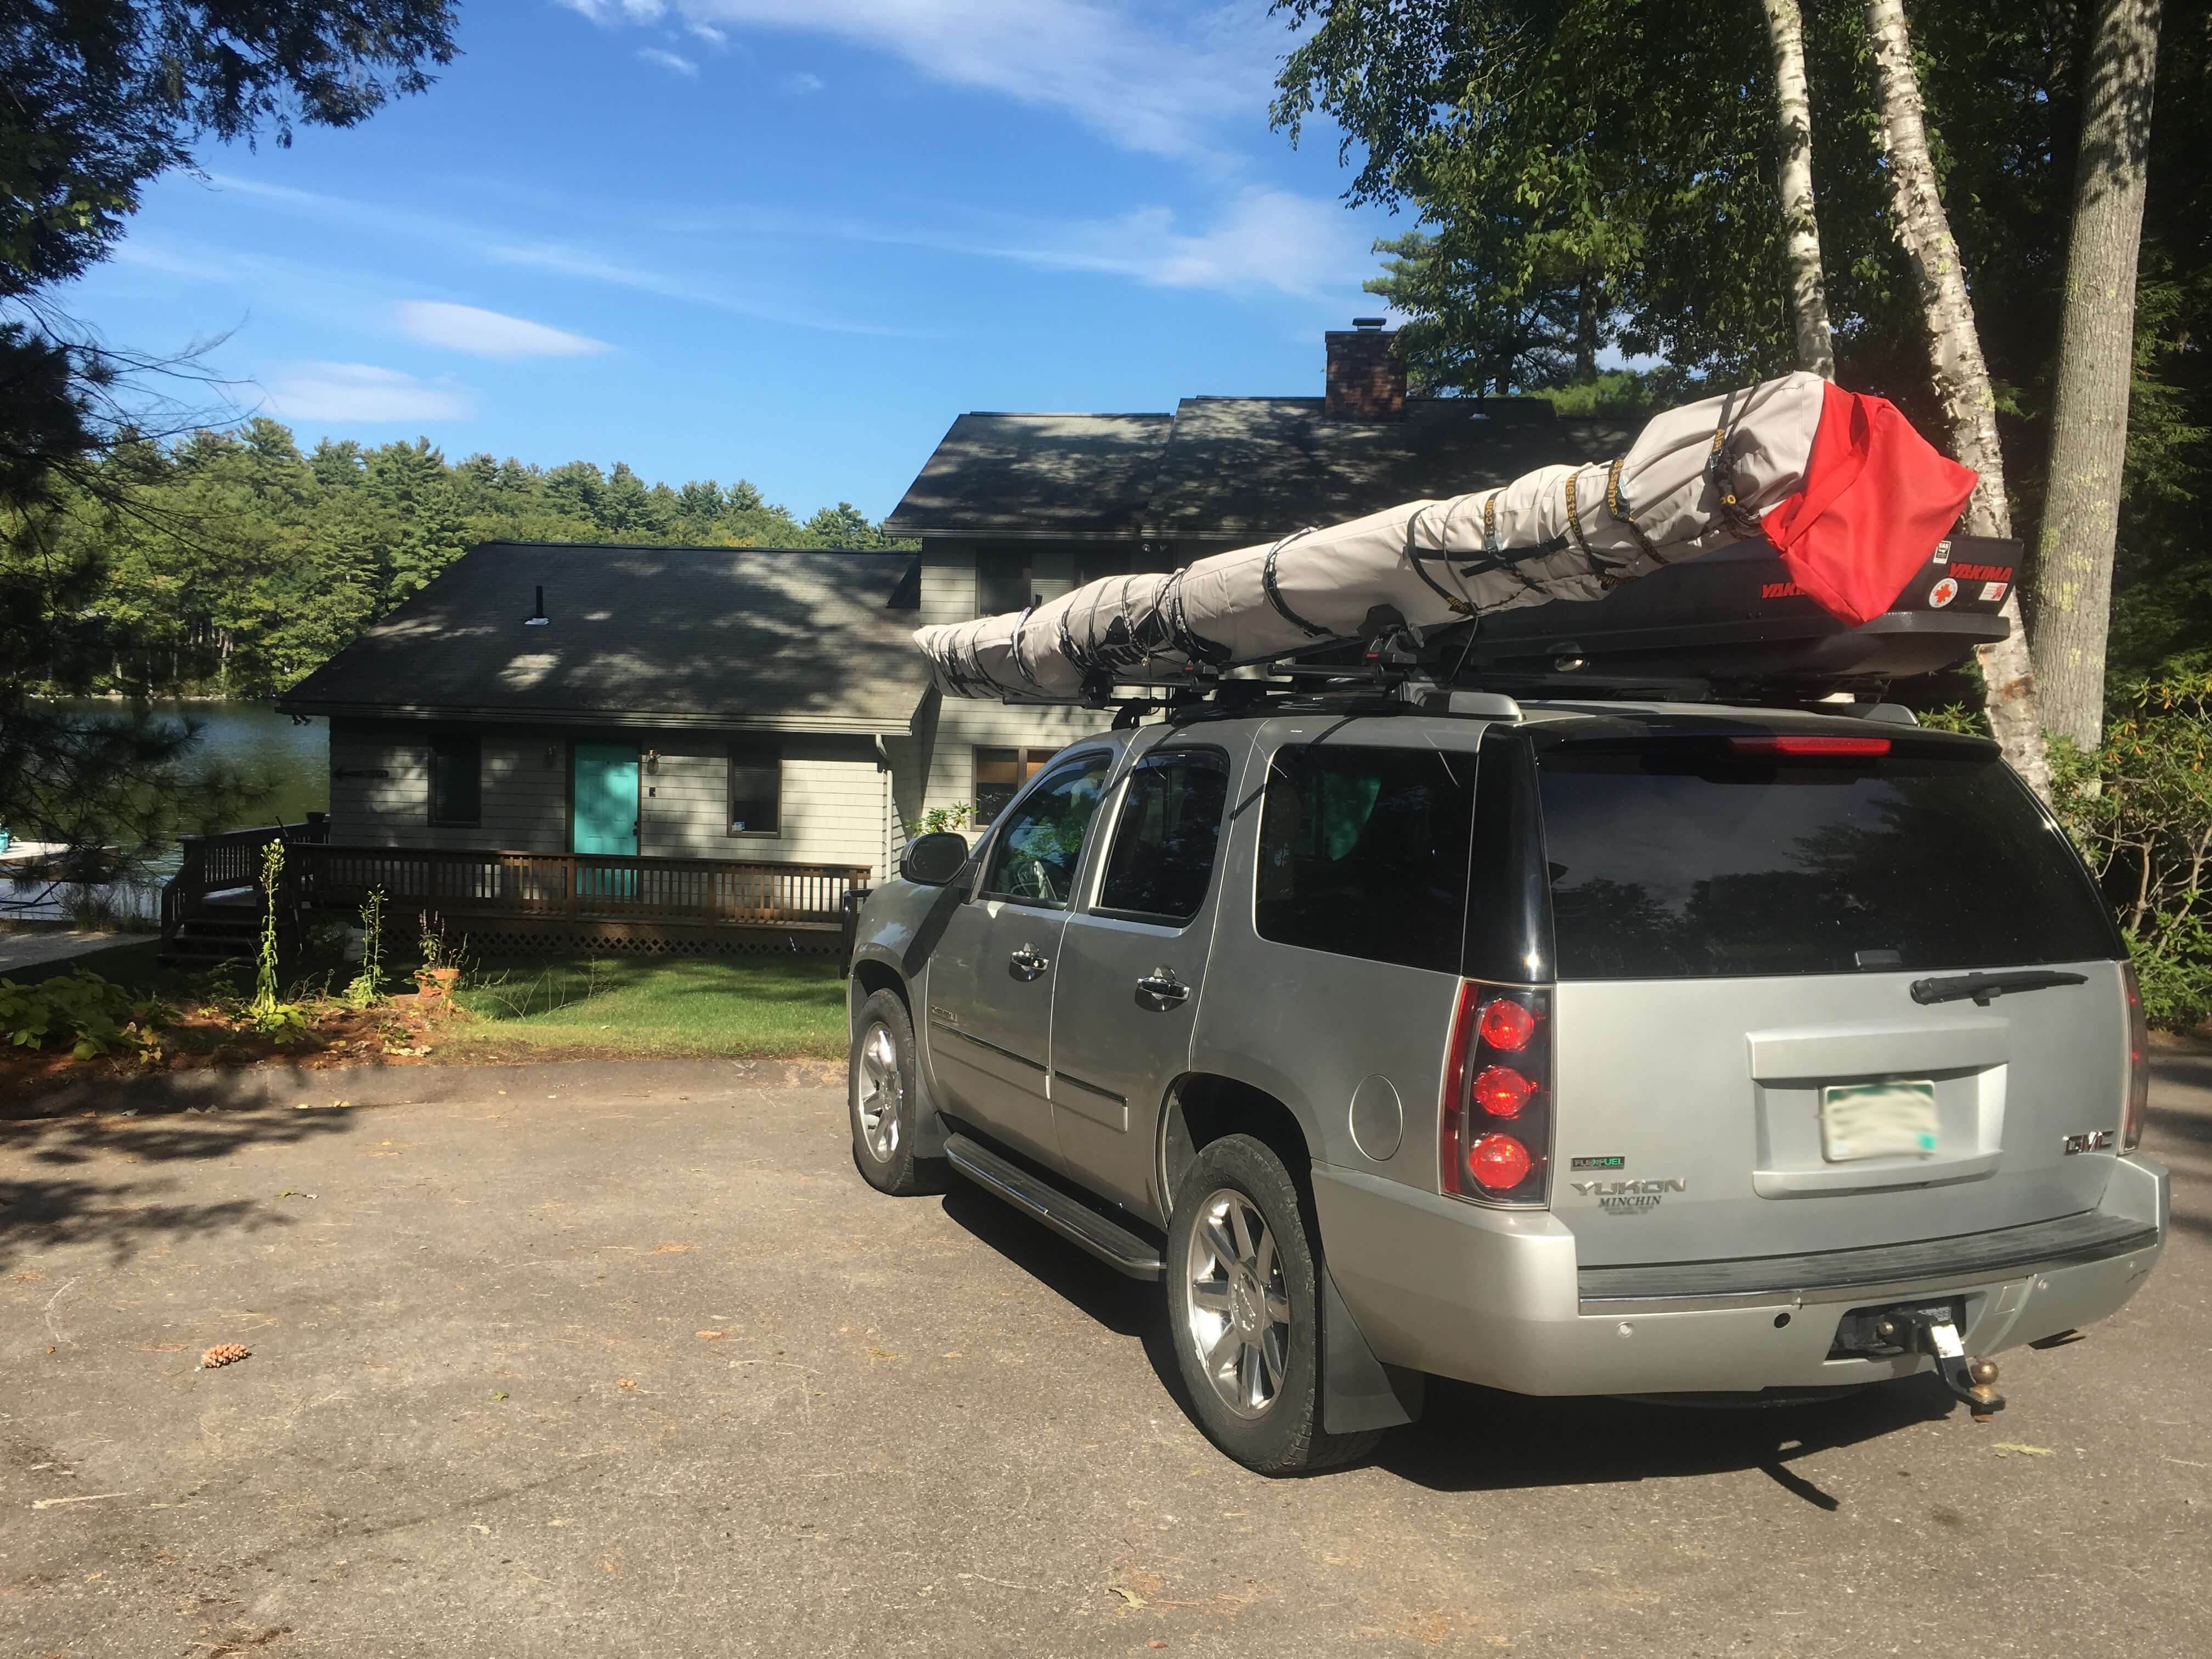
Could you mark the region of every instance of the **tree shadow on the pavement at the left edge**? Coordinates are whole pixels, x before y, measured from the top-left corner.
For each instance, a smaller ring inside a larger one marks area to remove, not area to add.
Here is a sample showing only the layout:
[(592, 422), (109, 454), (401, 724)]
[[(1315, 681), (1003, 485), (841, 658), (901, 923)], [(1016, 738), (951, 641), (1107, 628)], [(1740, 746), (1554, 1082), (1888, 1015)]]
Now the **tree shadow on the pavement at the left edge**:
[(0, 1272), (24, 1252), (139, 1245), (210, 1232), (290, 1225), (274, 1194), (186, 1201), (164, 1164), (206, 1164), (254, 1146), (343, 1135), (352, 1113), (184, 1113), (177, 1117), (46, 1117), (0, 1124)]

